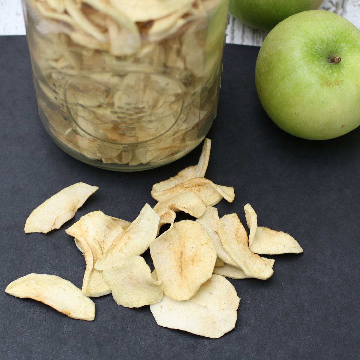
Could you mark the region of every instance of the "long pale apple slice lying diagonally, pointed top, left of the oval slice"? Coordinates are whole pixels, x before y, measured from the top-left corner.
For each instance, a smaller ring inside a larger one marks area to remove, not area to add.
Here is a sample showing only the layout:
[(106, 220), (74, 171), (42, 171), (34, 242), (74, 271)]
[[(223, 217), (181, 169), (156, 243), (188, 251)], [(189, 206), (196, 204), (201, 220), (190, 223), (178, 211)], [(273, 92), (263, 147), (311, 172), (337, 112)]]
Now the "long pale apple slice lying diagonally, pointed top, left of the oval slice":
[(149, 204), (145, 204), (139, 216), (114, 239), (104, 255), (96, 261), (95, 269), (103, 270), (119, 260), (145, 252), (156, 238), (159, 220), (159, 215)]

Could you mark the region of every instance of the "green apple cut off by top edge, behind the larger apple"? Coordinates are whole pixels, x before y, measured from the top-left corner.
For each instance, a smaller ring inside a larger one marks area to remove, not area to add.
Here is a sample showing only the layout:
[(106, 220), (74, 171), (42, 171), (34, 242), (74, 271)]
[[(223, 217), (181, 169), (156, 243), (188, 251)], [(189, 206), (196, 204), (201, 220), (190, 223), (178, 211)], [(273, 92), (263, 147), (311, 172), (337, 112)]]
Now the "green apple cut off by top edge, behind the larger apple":
[(229, 13), (247, 26), (271, 30), (290, 15), (318, 9), (323, 0), (230, 0)]

